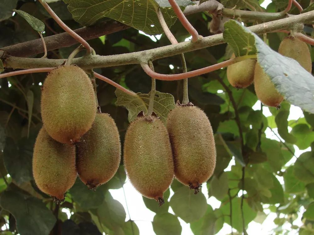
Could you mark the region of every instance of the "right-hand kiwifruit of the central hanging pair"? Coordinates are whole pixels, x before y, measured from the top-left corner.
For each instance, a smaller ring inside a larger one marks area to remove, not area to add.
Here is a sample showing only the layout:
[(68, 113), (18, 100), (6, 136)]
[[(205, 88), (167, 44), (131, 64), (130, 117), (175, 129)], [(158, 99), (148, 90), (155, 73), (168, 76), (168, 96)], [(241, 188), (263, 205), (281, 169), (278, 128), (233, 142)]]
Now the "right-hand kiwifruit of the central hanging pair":
[(202, 183), (214, 173), (216, 147), (206, 114), (192, 103), (177, 106), (167, 118), (175, 177), (198, 193)]

